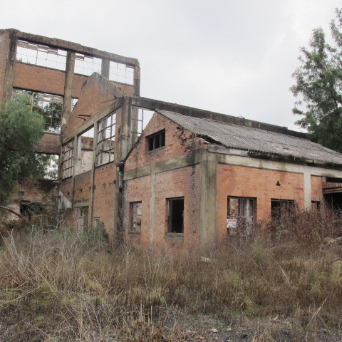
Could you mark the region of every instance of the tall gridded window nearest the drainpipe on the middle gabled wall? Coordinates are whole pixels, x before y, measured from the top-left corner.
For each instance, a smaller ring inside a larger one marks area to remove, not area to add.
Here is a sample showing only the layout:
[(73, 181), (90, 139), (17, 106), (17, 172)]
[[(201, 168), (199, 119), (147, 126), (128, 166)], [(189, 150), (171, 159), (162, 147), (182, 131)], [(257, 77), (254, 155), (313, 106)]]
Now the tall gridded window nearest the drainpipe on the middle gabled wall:
[(115, 149), (116, 113), (112, 113), (98, 122), (96, 138), (96, 166), (113, 162)]

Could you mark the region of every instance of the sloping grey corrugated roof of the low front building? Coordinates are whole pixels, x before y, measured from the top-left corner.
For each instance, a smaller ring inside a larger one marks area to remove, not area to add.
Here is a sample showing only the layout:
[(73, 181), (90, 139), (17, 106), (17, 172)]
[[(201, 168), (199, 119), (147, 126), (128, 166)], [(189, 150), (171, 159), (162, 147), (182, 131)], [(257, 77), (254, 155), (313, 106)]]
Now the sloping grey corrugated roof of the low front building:
[(166, 110), (156, 111), (192, 133), (207, 136), (225, 147), (342, 165), (341, 153), (307, 139)]

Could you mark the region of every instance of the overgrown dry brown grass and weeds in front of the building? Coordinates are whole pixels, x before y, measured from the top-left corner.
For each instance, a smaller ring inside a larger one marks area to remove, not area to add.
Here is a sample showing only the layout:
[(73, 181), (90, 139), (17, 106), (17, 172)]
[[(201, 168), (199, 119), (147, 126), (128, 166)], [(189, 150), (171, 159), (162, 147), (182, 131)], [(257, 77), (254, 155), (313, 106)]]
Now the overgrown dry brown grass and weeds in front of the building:
[[(302, 213), (234, 237), (207, 259), (108, 252), (94, 237), (56, 230), (9, 235), (0, 252), (0, 341), (190, 341), (170, 319), (177, 311), (341, 329), (341, 235), (337, 219)], [(266, 335), (255, 341), (272, 341)]]

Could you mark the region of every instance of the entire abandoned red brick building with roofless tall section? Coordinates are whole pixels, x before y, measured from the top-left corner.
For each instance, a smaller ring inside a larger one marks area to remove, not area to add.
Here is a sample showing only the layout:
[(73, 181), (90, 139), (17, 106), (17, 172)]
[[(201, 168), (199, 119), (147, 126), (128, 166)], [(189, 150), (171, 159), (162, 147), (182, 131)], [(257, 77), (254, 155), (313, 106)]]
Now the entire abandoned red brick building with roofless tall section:
[(204, 250), (294, 207), (341, 205), (342, 155), (303, 133), (142, 98), (133, 58), (16, 30), (0, 39), (3, 100), (63, 102), (37, 151), (61, 155), (66, 225)]

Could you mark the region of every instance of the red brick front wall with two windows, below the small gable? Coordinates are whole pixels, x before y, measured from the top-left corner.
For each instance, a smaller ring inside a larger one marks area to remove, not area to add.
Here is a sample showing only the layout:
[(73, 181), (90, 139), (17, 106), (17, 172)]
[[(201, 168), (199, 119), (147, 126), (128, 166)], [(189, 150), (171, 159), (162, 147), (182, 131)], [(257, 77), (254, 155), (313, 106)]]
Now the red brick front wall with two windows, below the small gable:
[[(199, 244), (199, 165), (155, 175), (155, 248), (193, 247)], [(149, 247), (151, 176), (125, 182), (124, 228), (128, 241)], [(184, 197), (184, 235), (167, 234), (167, 199)], [(141, 234), (130, 232), (130, 202), (142, 202)]]

